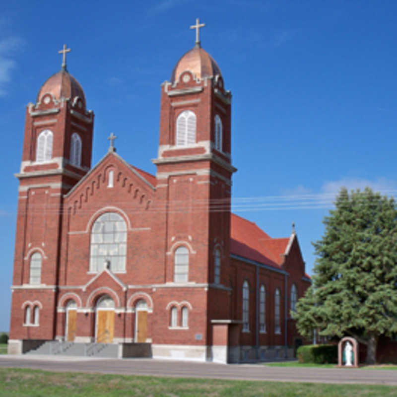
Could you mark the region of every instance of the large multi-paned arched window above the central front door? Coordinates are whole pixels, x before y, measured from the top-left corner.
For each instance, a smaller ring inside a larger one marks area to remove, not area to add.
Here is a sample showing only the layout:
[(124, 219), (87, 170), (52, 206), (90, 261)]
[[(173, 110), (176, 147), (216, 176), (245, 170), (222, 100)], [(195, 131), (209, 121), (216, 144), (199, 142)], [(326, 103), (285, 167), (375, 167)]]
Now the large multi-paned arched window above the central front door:
[(116, 212), (105, 212), (91, 229), (90, 271), (110, 264), (112, 271), (126, 271), (127, 224)]

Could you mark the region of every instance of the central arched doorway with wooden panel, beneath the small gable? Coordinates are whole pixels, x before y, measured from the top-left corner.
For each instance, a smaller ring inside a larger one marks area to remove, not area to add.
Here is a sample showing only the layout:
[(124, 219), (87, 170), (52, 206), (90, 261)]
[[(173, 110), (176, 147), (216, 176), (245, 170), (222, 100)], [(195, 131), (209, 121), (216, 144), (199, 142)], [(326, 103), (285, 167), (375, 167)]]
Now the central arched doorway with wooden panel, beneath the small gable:
[(103, 295), (96, 304), (96, 341), (100, 343), (112, 342), (114, 326), (115, 302), (109, 295)]

